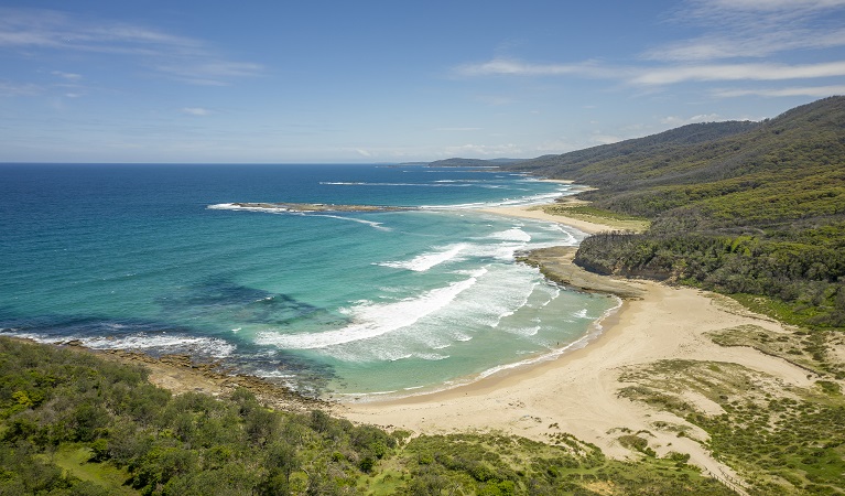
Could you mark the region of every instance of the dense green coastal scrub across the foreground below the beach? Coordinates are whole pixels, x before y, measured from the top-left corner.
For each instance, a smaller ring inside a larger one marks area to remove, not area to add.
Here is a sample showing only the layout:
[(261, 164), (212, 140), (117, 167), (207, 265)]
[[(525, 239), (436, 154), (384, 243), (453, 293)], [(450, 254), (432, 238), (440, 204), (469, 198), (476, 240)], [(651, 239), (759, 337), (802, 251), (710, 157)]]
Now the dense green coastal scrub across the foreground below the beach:
[(559, 433), (389, 433), (314, 410), (171, 396), (144, 369), (0, 338), (0, 495), (726, 495), (681, 455), (608, 460)]

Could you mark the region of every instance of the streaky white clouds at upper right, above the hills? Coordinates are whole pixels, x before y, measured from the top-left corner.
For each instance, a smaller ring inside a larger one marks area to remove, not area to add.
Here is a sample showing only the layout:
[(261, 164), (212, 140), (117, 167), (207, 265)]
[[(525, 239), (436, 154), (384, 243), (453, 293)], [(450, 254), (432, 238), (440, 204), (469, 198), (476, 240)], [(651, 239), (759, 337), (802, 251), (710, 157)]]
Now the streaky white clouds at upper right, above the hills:
[[(703, 34), (653, 46), (627, 63), (600, 60), (533, 63), (514, 57), (454, 67), (463, 77), (576, 77), (607, 79), (649, 90), (684, 83), (813, 80), (845, 76), (845, 61), (795, 64), (794, 51), (845, 46), (845, 0), (690, 0), (668, 22)], [(833, 15), (836, 13), (836, 15)], [(761, 61), (761, 58), (766, 61)], [(728, 62), (728, 60), (730, 60)], [(728, 97), (827, 96), (838, 86), (806, 84), (781, 89), (721, 89)], [(841, 91), (838, 91), (841, 93)]]

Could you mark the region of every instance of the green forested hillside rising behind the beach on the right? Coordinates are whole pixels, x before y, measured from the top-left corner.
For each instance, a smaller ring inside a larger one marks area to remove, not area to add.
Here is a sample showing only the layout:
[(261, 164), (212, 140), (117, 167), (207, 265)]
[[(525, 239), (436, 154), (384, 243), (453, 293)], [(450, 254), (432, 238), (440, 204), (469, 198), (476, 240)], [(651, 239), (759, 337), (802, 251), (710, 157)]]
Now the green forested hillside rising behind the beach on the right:
[(652, 220), (586, 239), (576, 262), (735, 295), (788, 322), (845, 326), (845, 97), (760, 123), (692, 125), (512, 169), (597, 186)]

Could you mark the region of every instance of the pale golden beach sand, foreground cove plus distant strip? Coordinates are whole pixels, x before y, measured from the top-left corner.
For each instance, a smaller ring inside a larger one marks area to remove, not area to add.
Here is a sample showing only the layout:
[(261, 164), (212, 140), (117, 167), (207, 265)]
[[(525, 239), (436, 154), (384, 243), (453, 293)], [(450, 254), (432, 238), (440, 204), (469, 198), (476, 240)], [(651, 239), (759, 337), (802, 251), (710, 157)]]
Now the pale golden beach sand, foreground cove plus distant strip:
[[(508, 207), (490, 212), (561, 222), (585, 231), (605, 228), (537, 209)], [(642, 298), (626, 300), (602, 323), (604, 332), (581, 349), (442, 392), (338, 405), (334, 413), (418, 433), (499, 430), (548, 441), (550, 434), (568, 432), (617, 457), (632, 455), (616, 442), (618, 429), (648, 430), (654, 434), (650, 445), (658, 453), (686, 452), (692, 463), (714, 474), (735, 476), (697, 442), (656, 430), (654, 422), (662, 420), (690, 425), (696, 438), (706, 439), (704, 432), (678, 417), (619, 398), (617, 391), (626, 386), (618, 380), (619, 375), (624, 367), (660, 359), (721, 360), (763, 371), (784, 384), (809, 387), (812, 380), (804, 369), (752, 348), (722, 347), (705, 336), (711, 331), (743, 324), (786, 331), (769, 319), (728, 306), (723, 296), (651, 281), (628, 283), (639, 289)], [(704, 411), (715, 405), (703, 397), (689, 400)]]

